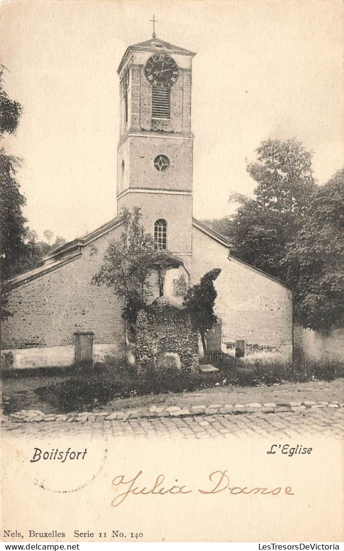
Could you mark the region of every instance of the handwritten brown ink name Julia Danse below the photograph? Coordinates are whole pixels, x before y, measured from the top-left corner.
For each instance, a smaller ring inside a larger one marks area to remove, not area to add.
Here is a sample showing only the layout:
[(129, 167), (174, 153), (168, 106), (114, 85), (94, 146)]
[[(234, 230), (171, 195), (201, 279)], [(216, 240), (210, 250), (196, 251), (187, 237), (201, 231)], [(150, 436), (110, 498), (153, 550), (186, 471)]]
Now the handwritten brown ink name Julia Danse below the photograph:
[[(138, 482), (138, 479), (142, 478), (142, 474), (143, 474), (142, 471), (139, 471), (136, 477), (131, 478), (130, 480), (126, 480), (125, 476), (121, 474), (120, 476), (117, 476), (112, 480), (113, 486), (119, 487), (124, 490), (121, 494), (116, 495), (115, 499), (112, 500), (112, 503), (111, 503), (112, 507), (118, 507), (119, 505), (121, 505), (123, 501), (130, 494), (132, 495), (191, 494), (191, 492), (193, 491), (192, 489), (187, 489), (186, 485), (166, 484), (164, 474), (159, 474), (155, 479), (154, 484), (146, 487), (142, 485), (141, 481)], [(213, 473), (209, 474), (208, 478), (211, 484), (209, 484), (208, 489), (198, 488), (197, 491), (200, 494), (219, 494), (221, 491), (229, 490), (230, 494), (232, 495), (238, 495), (238, 494), (278, 495), (280, 493), (286, 494), (286, 495), (294, 495), (292, 493), (292, 489), (290, 486), (286, 486), (284, 490), (280, 486), (272, 489), (263, 488), (263, 487), (255, 487), (255, 488), (249, 489), (246, 486), (243, 488), (239, 486), (232, 486), (230, 485), (227, 471), (214, 471)], [(175, 482), (178, 482), (178, 480), (175, 479)]]

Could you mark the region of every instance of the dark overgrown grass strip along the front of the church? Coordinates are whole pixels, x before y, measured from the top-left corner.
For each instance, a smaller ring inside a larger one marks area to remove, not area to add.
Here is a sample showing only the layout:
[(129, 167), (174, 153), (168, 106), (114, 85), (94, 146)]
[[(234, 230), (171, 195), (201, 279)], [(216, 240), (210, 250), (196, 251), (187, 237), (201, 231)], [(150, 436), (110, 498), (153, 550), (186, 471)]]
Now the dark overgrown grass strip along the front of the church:
[(41, 401), (49, 403), (58, 413), (92, 411), (115, 398), (192, 392), (221, 385), (262, 386), (283, 382), (332, 381), (344, 377), (344, 363), (339, 361), (298, 361), (281, 364), (256, 360), (252, 364), (237, 363), (218, 373), (193, 371), (158, 371), (150, 366), (141, 370), (122, 365), (98, 365), (92, 369), (74, 371), (68, 379), (47, 381), (35, 389)]

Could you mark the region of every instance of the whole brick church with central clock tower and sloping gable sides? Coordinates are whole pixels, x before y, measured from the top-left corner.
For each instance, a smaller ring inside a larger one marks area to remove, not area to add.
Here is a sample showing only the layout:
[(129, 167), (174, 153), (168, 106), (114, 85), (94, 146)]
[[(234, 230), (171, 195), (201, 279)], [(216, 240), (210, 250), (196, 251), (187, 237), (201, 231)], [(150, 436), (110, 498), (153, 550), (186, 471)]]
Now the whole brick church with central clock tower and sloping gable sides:
[(154, 34), (127, 48), (117, 71), (119, 215), (58, 247), (44, 266), (10, 280), (13, 316), (2, 327), (4, 368), (73, 365), (82, 338), (91, 343), (93, 361), (123, 358), (123, 305), (111, 288), (91, 282), (109, 242), (123, 232), (121, 210), (135, 207), (141, 208), (141, 222), (157, 247), (175, 260), (164, 284), (170, 302), (180, 302), (174, 282), (181, 276), (193, 285), (209, 270), (221, 268), (214, 282), (219, 324), (209, 334), (209, 346), (234, 355), (240, 343), (248, 360), (291, 359), (291, 291), (231, 256), (230, 241), (192, 216), (193, 56)]

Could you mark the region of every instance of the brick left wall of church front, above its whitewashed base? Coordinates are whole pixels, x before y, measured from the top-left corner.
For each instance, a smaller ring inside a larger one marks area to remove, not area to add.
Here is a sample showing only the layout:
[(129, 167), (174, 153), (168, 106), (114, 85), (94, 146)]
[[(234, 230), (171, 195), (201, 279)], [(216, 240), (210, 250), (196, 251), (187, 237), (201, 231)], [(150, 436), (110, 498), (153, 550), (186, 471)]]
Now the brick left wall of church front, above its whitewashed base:
[(123, 348), (122, 306), (111, 289), (92, 285), (116, 228), (82, 249), (65, 266), (20, 285), (9, 293), (8, 318), (2, 327), (2, 348), (55, 347), (74, 344), (74, 332), (93, 331), (94, 344)]

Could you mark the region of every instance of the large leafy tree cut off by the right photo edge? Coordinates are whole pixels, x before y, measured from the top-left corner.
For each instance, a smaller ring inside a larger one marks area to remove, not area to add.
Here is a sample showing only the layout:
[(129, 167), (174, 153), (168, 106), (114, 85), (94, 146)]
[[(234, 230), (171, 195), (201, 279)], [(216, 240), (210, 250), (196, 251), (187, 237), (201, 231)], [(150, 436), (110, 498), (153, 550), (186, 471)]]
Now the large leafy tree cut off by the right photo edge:
[(344, 325), (344, 169), (311, 197), (308, 217), (284, 265), (297, 321), (329, 331)]

